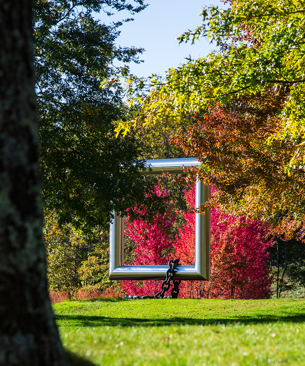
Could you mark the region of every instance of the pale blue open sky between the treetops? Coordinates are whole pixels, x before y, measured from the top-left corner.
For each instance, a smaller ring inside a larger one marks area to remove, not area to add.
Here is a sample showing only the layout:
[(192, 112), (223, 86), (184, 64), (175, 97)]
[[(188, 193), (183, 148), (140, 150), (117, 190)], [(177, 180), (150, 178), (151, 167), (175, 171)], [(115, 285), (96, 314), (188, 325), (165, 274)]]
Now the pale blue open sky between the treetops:
[[(214, 44), (201, 38), (195, 45), (181, 44), (175, 38), (179, 37), (187, 29), (195, 29), (201, 24), (200, 12), (204, 7), (215, 2), (186, 1), (186, 0), (150, 0), (149, 6), (135, 14), (133, 22), (124, 23), (120, 27), (121, 34), (117, 44), (121, 46), (136, 46), (145, 48), (141, 64), (130, 64), (130, 71), (140, 77), (151, 74), (162, 74), (170, 67), (177, 67), (185, 63), (185, 57), (205, 57), (214, 49)], [(220, 4), (220, 1), (217, 1)], [(127, 12), (117, 14), (101, 20), (108, 23), (109, 20), (121, 20), (130, 18)], [(108, 20), (108, 21), (107, 21)]]

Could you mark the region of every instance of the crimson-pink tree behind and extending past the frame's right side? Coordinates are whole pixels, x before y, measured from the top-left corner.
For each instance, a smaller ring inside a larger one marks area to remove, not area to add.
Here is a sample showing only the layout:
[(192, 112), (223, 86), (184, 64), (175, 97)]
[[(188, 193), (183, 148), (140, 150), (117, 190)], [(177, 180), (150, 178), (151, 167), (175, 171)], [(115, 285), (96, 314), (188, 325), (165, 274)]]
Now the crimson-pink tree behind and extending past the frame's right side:
[[(179, 228), (174, 244), (180, 263), (195, 260), (195, 188), (186, 193), (190, 210), (186, 224)], [(185, 297), (258, 299), (270, 295), (270, 268), (261, 221), (248, 221), (211, 210), (211, 281), (182, 281)]]

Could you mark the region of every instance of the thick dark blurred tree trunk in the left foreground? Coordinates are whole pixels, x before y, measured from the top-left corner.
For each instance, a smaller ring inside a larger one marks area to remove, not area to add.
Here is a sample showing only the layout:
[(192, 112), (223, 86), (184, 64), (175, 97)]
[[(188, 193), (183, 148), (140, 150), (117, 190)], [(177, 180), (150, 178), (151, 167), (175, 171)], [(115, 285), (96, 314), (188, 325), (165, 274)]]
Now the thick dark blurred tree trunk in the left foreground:
[(41, 236), (30, 0), (0, 0), (0, 365), (66, 365)]

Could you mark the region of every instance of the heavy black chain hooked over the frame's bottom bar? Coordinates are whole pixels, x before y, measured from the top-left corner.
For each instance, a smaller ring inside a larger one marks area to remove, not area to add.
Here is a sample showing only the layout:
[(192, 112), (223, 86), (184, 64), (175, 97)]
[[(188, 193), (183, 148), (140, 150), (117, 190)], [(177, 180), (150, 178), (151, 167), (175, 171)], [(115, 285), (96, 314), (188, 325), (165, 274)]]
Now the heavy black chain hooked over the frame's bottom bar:
[[(179, 265), (179, 258), (171, 259), (168, 262), (168, 270), (166, 271), (166, 279), (161, 284), (161, 291), (157, 292), (155, 296), (148, 296), (148, 295), (142, 295), (142, 296), (135, 296), (135, 295), (125, 295), (124, 298), (129, 299), (163, 299), (165, 298), (172, 298), (176, 299), (179, 294), (179, 284), (181, 283), (181, 280), (174, 280), (175, 273), (177, 272), (176, 267)], [(174, 287), (171, 290), (171, 296), (164, 296), (165, 292), (170, 289), (171, 281), (174, 285)]]

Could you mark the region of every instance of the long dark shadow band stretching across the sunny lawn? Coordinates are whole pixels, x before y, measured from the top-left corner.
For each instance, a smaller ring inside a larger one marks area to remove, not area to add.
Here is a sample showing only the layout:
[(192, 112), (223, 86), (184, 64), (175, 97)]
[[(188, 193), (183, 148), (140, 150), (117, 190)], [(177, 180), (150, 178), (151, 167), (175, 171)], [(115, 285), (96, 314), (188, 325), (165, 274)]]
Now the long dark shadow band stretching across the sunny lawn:
[(305, 322), (305, 314), (297, 313), (293, 316), (273, 317), (265, 314), (256, 314), (256, 317), (240, 317), (236, 319), (222, 318), (171, 318), (171, 319), (153, 319), (153, 318), (112, 318), (102, 316), (86, 316), (86, 315), (57, 315), (59, 325), (73, 327), (99, 327), (99, 326), (168, 326), (168, 325), (215, 325), (215, 324), (266, 324), (277, 321), (303, 323)]

